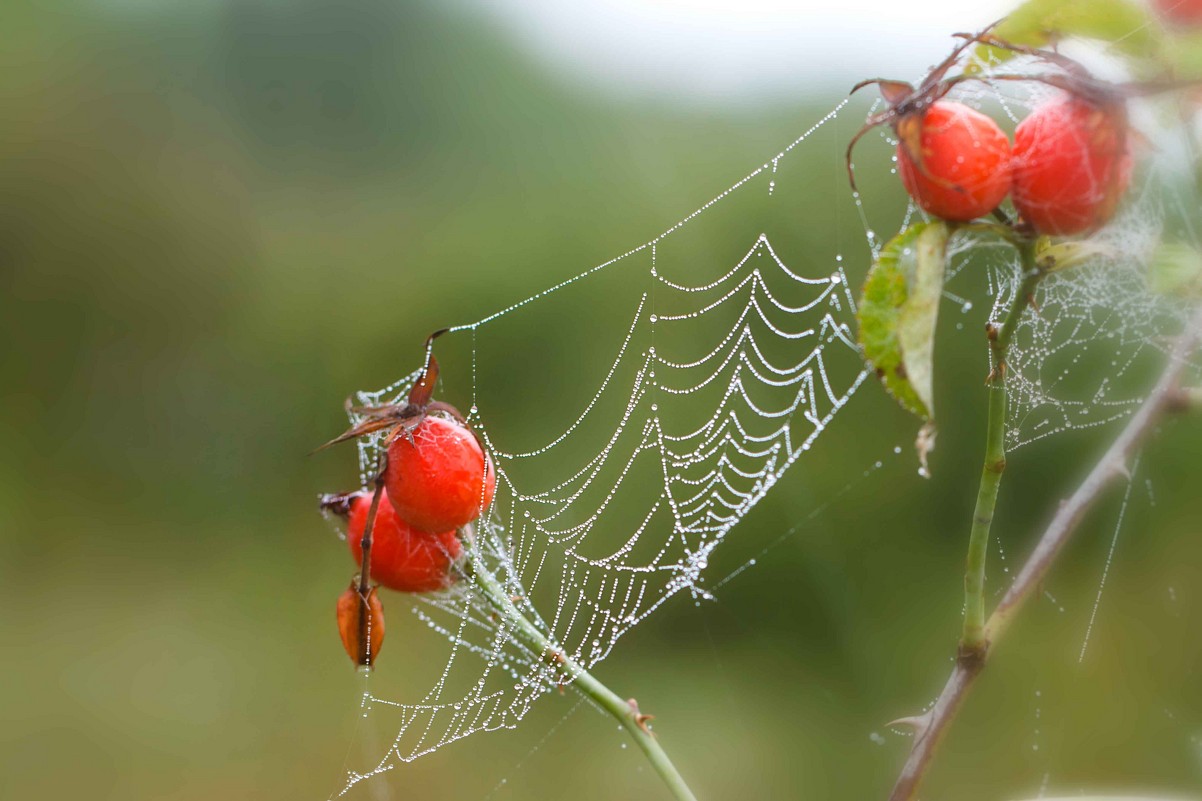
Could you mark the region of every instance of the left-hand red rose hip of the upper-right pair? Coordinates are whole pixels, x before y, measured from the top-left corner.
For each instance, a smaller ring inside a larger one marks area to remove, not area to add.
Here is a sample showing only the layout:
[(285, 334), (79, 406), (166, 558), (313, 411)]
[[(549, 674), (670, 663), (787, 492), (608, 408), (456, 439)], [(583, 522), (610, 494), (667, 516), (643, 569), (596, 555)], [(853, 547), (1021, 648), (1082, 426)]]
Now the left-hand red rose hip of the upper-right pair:
[(920, 129), (922, 166), (898, 143), (898, 172), (928, 214), (966, 222), (998, 208), (1010, 191), (1010, 141), (992, 119), (962, 103), (930, 106)]

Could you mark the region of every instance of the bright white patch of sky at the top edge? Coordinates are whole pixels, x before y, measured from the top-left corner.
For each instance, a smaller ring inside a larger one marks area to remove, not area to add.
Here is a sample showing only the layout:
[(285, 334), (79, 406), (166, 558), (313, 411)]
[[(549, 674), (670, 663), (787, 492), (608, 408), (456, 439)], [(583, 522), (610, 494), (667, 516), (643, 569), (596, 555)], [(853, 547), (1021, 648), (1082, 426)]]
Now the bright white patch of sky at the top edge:
[(914, 78), (1017, 0), (470, 0), (569, 78), (738, 101)]

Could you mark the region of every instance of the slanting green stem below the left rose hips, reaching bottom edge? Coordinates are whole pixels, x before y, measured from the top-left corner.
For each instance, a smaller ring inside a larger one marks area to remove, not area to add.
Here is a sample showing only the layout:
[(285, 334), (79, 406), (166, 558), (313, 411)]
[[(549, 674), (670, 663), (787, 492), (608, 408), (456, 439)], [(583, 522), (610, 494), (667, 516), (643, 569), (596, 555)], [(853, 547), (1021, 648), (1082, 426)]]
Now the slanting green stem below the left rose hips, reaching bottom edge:
[[(474, 541), (474, 532), (470, 526), (464, 527), (464, 536), (469, 542)], [(672, 796), (678, 801), (696, 801), (692, 790), (689, 789), (689, 785), (685, 784), (684, 778), (682, 778), (672, 760), (668, 759), (667, 753), (660, 747), (659, 740), (647, 728), (647, 720), (650, 716), (642, 714), (633, 699), (629, 701), (623, 700), (617, 693), (594, 678), (579, 663), (553, 645), (538, 630), (538, 627), (531, 623), (518, 610), (510, 599), (508, 593), (505, 592), (501, 582), (478, 559), (474, 559), (471, 563), (471, 575), (489, 604), (513, 624), (520, 636), (552, 664), (559, 665), (571, 678), (572, 687), (596, 701), (601, 708), (612, 714), (626, 732), (633, 737), (635, 743), (647, 756), (651, 767), (660, 775), (664, 783), (668, 785)]]

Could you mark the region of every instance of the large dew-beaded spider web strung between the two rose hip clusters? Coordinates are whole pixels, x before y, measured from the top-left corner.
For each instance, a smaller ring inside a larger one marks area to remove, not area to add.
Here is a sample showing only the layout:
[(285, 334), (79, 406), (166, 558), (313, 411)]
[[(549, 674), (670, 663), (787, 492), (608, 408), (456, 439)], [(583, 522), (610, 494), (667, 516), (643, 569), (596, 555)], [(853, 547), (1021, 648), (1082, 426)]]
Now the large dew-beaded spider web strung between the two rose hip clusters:
[[(444, 388), (470, 386), (466, 416), (496, 465), (496, 497), (464, 542), (466, 563), (495, 576), (553, 649), (585, 670), (673, 597), (710, 597), (710, 554), (869, 374), (841, 256), (795, 247), (789, 218), (779, 238), (790, 250), (778, 249), (776, 235), (746, 229), (762, 215), (734, 202), (790, 202), (781, 200), (789, 156), (841, 108), (660, 236), (438, 343)], [(804, 176), (796, 178), (804, 191)], [(744, 230), (742, 247), (714, 248), (720, 239), (706, 220), (722, 239)], [(618, 299), (595, 309), (595, 297)], [(607, 367), (582, 369), (579, 381), (557, 373), (520, 386), (488, 373), (506, 363), (494, 351), (513, 337), (536, 360), (529, 332), (543, 326), (554, 326), (553, 344), (575, 337), (573, 349), (607, 349), (603, 360), (579, 360)], [(464, 364), (470, 375), (454, 376)], [(415, 370), (357, 400), (399, 400), (417, 378)], [(546, 425), (530, 432), (516, 415), (494, 416), (494, 407), (514, 405), (506, 394), (519, 393), (530, 410), (565, 386), (589, 388), (553, 435)], [(359, 443), (364, 486), (380, 446), (380, 437)], [(376, 764), (349, 772), (338, 795), (475, 732), (511, 729), (571, 681), (466, 572), (412, 601), (451, 652), (412, 702), (365, 694), (364, 707), (388, 716), (397, 735)]]

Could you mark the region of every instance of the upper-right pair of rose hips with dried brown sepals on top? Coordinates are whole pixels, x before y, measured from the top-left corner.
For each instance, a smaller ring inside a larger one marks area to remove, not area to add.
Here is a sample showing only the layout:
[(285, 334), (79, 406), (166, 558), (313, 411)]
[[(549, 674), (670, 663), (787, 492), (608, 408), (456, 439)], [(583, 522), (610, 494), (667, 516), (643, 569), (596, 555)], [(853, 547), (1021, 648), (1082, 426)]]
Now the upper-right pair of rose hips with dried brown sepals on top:
[[(987, 34), (969, 41), (1029, 52)], [(889, 107), (870, 118), (864, 131), (881, 123), (893, 126), (898, 172), (915, 202), (934, 216), (966, 222), (993, 213), (1010, 195), (1019, 215), (1016, 225), (1028, 233), (1072, 236), (1105, 225), (1131, 179), (1124, 94), (1063, 57), (1036, 52), (1065, 71), (1004, 79), (1040, 81), (1061, 91), (1018, 124), (1011, 147), (993, 119), (944, 99), (971, 79), (944, 78), (962, 51), (918, 88), (865, 82), (879, 84)]]

